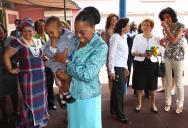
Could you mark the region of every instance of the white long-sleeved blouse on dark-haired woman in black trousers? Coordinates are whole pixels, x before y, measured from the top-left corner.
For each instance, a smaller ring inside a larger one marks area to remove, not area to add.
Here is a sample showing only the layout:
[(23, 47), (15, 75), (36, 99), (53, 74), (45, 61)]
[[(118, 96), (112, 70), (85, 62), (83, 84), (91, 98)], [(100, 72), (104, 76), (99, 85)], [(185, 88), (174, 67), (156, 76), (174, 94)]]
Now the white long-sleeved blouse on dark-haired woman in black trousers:
[(113, 34), (110, 38), (108, 58), (110, 73), (115, 73), (114, 67), (123, 67), (127, 69), (128, 52), (127, 35), (121, 37), (117, 33)]

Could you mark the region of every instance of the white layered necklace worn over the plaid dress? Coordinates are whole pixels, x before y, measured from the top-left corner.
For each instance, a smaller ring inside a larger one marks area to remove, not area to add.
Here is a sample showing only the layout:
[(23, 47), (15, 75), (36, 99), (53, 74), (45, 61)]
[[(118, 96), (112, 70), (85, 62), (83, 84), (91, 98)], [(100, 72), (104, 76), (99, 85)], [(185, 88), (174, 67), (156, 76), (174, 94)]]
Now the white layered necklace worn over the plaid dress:
[(40, 47), (37, 45), (36, 41), (33, 41), (34, 43), (34, 46), (31, 46), (30, 43), (28, 43), (28, 41), (24, 38), (22, 38), (22, 40), (24, 41), (24, 43), (26, 44), (26, 46), (29, 48), (29, 50), (31, 51), (32, 55), (34, 57), (39, 57), (39, 54), (40, 54)]

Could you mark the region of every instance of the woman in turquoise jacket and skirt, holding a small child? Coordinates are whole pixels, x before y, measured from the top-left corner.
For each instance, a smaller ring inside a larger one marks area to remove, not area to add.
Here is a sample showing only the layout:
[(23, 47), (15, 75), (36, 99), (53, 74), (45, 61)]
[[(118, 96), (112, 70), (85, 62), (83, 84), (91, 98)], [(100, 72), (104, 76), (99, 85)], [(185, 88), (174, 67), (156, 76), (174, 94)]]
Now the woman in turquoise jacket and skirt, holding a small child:
[(95, 33), (99, 22), (94, 7), (86, 7), (75, 19), (77, 49), (67, 64), (67, 75), (72, 77), (70, 93), (76, 99), (67, 104), (69, 128), (102, 128), (99, 71), (106, 63), (108, 47)]

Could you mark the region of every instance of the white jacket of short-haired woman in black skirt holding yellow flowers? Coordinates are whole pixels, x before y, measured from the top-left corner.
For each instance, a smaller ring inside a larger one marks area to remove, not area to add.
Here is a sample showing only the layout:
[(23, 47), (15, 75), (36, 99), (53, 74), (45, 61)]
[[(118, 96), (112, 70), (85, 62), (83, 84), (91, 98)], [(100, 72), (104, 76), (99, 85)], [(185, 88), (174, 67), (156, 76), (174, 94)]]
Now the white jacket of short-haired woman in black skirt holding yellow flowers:
[[(151, 47), (159, 47), (159, 51), (162, 52), (162, 46), (159, 43), (160, 39), (158, 37), (152, 36), (151, 38), (147, 39), (143, 36), (143, 34), (138, 34), (134, 38), (132, 53), (145, 53), (147, 49), (151, 49)], [(161, 53), (162, 54), (162, 53)], [(144, 61), (145, 57), (135, 56), (134, 60), (136, 61)], [(157, 62), (157, 57), (151, 56), (150, 60), (152, 62)]]

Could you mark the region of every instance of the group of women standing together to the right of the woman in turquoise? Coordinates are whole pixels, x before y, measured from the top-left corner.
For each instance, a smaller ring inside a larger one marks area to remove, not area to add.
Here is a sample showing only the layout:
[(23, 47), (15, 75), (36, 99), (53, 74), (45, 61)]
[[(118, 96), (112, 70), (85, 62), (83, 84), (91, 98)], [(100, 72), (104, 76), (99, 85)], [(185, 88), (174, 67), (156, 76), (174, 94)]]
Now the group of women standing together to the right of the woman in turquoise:
[(142, 97), (145, 91), (145, 95), (151, 97), (151, 111), (158, 113), (156, 91), (158, 77), (161, 77), (160, 63), (165, 65), (165, 73), (162, 76), (165, 89), (164, 111), (171, 110), (171, 90), (174, 81), (177, 89), (176, 113), (183, 112), (183, 70), (187, 45), (184, 38), (185, 28), (178, 22), (176, 12), (170, 7), (159, 13), (159, 19), (163, 28), (162, 38), (152, 32), (154, 28), (152, 19), (144, 19), (138, 30), (133, 22), (129, 30), (129, 19), (118, 19), (115, 14), (107, 17), (108, 27), (101, 34), (109, 46), (107, 70), (111, 94), (110, 113), (123, 123), (130, 123), (124, 112), (124, 92), (126, 84), (129, 85), (132, 65), (132, 87), (137, 96), (135, 112), (140, 112), (142, 109)]

